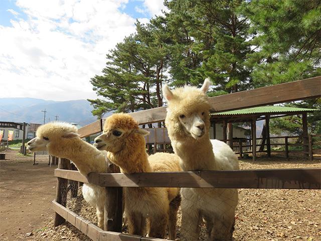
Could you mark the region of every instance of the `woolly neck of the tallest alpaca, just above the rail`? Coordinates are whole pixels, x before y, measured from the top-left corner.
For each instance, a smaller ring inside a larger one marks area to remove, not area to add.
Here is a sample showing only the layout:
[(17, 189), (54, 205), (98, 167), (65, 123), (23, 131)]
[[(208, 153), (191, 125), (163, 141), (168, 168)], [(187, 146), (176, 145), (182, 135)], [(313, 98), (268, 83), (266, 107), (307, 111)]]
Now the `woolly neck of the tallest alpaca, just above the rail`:
[(201, 140), (173, 139), (172, 146), (184, 171), (218, 170), (208, 134)]

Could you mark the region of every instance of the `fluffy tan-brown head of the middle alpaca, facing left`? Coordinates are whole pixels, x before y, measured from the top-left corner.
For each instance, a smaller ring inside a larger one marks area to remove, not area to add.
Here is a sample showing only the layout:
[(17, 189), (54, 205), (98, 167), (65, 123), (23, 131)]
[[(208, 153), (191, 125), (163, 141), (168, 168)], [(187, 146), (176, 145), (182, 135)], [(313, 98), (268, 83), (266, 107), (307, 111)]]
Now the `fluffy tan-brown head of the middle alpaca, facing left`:
[(106, 118), (103, 134), (95, 138), (94, 146), (98, 150), (118, 153), (140, 146), (145, 142), (143, 136), (148, 134), (149, 132), (138, 128), (138, 123), (129, 114), (115, 113)]

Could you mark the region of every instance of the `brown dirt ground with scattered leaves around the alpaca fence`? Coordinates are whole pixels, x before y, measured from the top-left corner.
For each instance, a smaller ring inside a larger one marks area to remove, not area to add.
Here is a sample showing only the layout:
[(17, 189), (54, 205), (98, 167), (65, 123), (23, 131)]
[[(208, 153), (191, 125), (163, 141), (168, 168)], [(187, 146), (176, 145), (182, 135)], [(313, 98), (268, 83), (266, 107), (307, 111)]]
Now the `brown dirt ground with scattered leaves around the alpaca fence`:
[[(48, 156), (21, 157), (6, 151), (0, 160), (0, 240), (90, 240), (68, 222), (53, 227), (51, 201), (56, 195), (54, 169)], [(292, 154), (285, 160), (240, 160), (241, 169), (321, 168), (320, 155), (309, 162)], [(69, 196), (67, 207), (97, 224), (95, 210), (81, 197)], [(233, 238), (241, 240), (321, 240), (320, 190), (240, 189)], [(178, 236), (180, 214), (178, 221)], [(204, 226), (202, 227), (204, 230)], [(124, 230), (126, 231), (126, 229)]]

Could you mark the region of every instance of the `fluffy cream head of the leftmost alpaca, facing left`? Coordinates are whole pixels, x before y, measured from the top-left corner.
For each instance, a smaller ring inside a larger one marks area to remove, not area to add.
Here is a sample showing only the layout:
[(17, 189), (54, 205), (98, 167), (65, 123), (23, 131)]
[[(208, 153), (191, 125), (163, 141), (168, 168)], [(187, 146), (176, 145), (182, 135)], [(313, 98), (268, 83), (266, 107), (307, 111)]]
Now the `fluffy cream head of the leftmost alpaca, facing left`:
[(50, 143), (59, 143), (61, 138), (78, 138), (78, 129), (63, 122), (52, 122), (42, 125), (36, 132), (36, 137), (27, 143), (27, 148), (32, 152), (46, 151)]

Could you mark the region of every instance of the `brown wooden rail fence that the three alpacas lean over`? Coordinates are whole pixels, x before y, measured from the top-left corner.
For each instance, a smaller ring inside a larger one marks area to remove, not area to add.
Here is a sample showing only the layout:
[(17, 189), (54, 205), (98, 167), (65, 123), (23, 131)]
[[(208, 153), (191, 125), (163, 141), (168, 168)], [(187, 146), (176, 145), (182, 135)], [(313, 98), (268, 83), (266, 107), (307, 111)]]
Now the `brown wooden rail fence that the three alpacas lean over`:
[[(282, 103), (321, 96), (321, 76), (291, 83), (273, 85), (258, 89), (236, 92), (209, 98), (212, 111), (225, 111), (273, 103)], [(139, 124), (164, 121), (166, 107), (130, 113)], [(81, 137), (102, 131), (100, 119), (79, 130)], [(321, 169), (269, 169), (239, 171), (199, 171), (165, 173), (90, 173), (82, 176), (78, 171), (68, 169), (68, 160), (60, 159), (55, 176), (58, 177), (57, 197), (53, 201), (56, 212), (55, 225), (67, 220), (93, 240), (165, 240), (152, 237), (123, 234), (119, 230), (121, 200), (117, 199), (122, 187), (198, 187), (198, 188), (285, 188), (321, 189)], [(107, 166), (110, 164), (106, 164)], [(104, 229), (102, 230), (81, 216), (65, 208), (67, 180), (93, 183), (106, 187), (108, 196), (105, 203)], [(110, 195), (109, 195), (110, 194)], [(120, 198), (121, 199), (121, 198)], [(118, 200), (116, 203), (110, 200)], [(113, 206), (110, 206), (113, 205)], [(108, 212), (112, 209), (113, 212)], [(118, 215), (118, 218), (117, 218)], [(117, 221), (118, 220), (118, 221)], [(114, 224), (114, 225), (111, 225)], [(121, 223), (120, 223), (121, 224)], [(121, 225), (120, 225), (121, 226)], [(107, 230), (108, 229), (108, 230)], [(115, 232), (118, 231), (118, 232)]]

